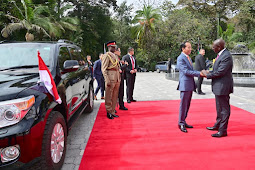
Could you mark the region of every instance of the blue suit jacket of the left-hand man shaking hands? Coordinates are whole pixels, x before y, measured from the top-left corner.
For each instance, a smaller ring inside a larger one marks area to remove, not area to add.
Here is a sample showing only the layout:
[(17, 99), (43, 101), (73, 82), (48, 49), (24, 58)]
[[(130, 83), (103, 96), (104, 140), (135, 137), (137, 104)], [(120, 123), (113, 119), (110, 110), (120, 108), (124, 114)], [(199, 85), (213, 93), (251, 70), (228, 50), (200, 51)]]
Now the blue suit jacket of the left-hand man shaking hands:
[(193, 70), (193, 66), (184, 53), (181, 53), (177, 58), (177, 68), (179, 69), (179, 84), (177, 90), (193, 91), (196, 87), (194, 76), (199, 77), (200, 72)]

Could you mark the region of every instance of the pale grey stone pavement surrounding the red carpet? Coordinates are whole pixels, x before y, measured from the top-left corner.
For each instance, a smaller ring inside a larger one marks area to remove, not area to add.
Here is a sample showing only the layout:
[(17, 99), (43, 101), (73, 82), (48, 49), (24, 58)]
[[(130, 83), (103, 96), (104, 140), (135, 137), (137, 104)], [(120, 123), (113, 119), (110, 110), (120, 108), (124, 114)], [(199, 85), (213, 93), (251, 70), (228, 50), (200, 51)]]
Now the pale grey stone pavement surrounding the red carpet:
[[(165, 75), (166, 73), (156, 72), (137, 73), (134, 99), (138, 102), (179, 100), (180, 92), (176, 90), (178, 82), (167, 80)], [(96, 86), (97, 84), (95, 82), (94, 87)], [(214, 98), (211, 91), (211, 85), (202, 85), (202, 91), (205, 92), (206, 95), (198, 95), (194, 93), (192, 98)], [(98, 93), (98, 98), (100, 98), (100, 93)], [(78, 170), (101, 102), (104, 102), (104, 100), (95, 100), (94, 111), (90, 114), (81, 115), (69, 132), (67, 153), (62, 170)], [(234, 87), (234, 93), (230, 96), (230, 102), (231, 105), (255, 114), (255, 88)], [(125, 103), (125, 105), (128, 107), (129, 104)]]

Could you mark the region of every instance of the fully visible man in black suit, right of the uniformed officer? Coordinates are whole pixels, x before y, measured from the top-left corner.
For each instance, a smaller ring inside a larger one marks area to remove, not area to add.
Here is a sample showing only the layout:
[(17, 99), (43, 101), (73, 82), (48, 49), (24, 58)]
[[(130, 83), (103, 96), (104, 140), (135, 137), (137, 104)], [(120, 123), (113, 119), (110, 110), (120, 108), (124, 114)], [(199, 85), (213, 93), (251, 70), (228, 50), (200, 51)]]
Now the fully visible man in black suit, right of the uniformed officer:
[(126, 84), (127, 84), (127, 102), (136, 102), (133, 98), (134, 86), (135, 86), (135, 76), (137, 72), (137, 63), (134, 57), (134, 48), (128, 48), (128, 54), (124, 55), (122, 60), (128, 62), (126, 67)]

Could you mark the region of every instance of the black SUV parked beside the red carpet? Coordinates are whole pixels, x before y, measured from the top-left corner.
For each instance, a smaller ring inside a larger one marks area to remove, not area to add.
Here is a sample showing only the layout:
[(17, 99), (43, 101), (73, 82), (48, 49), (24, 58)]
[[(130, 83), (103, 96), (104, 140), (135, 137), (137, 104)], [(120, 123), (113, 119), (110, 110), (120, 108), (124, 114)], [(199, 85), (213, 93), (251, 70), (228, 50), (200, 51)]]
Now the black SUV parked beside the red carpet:
[[(61, 104), (38, 88), (38, 50)], [(0, 43), (0, 168), (28, 162), (43, 169), (62, 167), (68, 130), (94, 105), (93, 79), (83, 57), (66, 40)]]

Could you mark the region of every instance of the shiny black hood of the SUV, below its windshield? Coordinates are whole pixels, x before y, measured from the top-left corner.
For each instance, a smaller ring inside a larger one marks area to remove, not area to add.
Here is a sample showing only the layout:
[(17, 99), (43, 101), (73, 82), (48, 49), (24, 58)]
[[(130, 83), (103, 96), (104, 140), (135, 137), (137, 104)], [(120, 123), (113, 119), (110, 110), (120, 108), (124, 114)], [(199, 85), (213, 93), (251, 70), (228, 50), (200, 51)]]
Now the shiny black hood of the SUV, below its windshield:
[(37, 70), (0, 71), (0, 101), (15, 99), (17, 95), (39, 80)]

